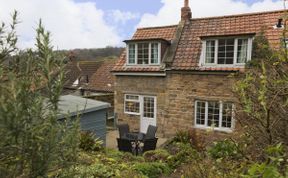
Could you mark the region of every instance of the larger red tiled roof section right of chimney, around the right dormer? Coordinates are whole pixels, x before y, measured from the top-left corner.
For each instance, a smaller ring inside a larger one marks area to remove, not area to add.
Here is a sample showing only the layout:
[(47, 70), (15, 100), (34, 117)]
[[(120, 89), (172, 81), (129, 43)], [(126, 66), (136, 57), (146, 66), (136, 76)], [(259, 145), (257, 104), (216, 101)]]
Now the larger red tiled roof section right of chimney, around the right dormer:
[[(274, 29), (284, 11), (241, 14), (232, 16), (192, 19), (186, 23), (173, 60), (174, 70), (216, 70), (199, 68), (201, 37), (245, 35), (261, 32), (272, 46), (279, 45), (282, 29)], [(228, 71), (231, 68), (226, 68)], [(237, 70), (237, 68), (234, 68)], [(225, 68), (219, 68), (223, 71)]]

